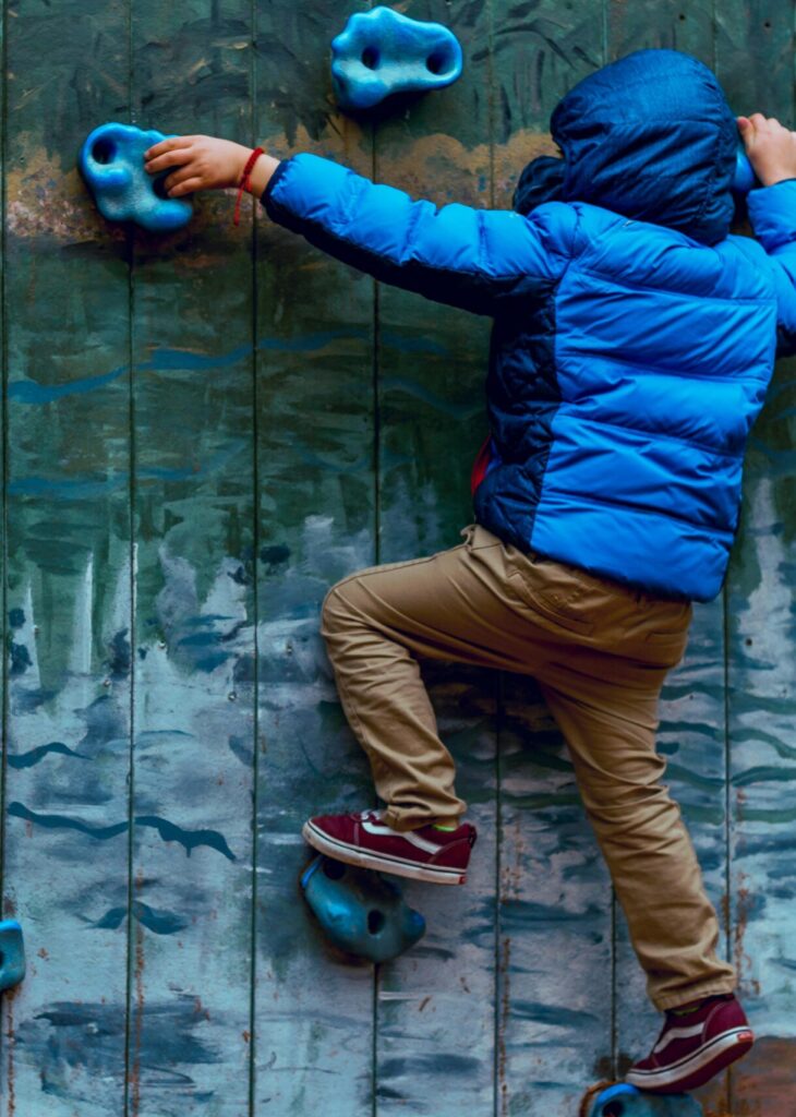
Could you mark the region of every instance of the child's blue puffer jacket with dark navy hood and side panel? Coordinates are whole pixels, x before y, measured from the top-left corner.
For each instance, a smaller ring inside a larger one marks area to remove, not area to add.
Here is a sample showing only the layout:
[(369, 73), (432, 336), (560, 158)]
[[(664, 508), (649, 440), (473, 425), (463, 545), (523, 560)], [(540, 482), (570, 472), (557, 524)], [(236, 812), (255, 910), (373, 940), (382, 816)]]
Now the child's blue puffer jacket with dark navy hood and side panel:
[[(758, 240), (729, 236), (735, 117), (675, 51), (589, 76), (552, 131), (564, 162), (526, 169), (522, 212), (438, 209), (314, 155), (280, 164), (263, 201), (376, 278), (493, 317), (481, 524), (710, 600), (777, 340), (796, 340), (796, 181), (749, 195)], [(535, 176), (559, 200), (526, 213)]]

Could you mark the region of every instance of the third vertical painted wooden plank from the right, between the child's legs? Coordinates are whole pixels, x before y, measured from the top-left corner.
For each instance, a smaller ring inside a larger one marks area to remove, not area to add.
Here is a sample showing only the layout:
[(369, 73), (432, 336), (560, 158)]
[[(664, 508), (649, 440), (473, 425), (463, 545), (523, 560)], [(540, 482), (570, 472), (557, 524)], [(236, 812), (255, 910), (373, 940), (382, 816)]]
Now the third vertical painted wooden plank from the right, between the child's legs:
[[(496, 203), (553, 154), (549, 116), (604, 59), (603, 4), (496, 0)], [(500, 729), (500, 1117), (575, 1113), (610, 1069), (607, 872), (560, 734), (530, 680), (506, 678)]]

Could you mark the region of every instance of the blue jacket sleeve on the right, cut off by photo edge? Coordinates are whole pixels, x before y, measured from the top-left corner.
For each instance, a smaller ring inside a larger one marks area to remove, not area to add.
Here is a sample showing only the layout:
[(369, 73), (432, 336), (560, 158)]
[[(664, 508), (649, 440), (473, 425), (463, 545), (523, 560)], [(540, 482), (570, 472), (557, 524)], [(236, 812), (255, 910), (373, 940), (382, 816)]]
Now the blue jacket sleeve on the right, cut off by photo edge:
[(777, 354), (796, 353), (796, 179), (752, 190), (755, 236), (768, 254), (777, 290)]

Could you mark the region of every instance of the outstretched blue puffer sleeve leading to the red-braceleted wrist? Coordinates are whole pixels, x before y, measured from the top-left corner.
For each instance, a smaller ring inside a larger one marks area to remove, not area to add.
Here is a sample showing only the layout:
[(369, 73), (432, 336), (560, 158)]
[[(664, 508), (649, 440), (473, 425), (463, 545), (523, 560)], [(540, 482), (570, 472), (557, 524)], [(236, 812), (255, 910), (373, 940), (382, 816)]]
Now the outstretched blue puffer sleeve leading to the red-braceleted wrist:
[(274, 221), (376, 279), (491, 315), (560, 278), (577, 222), (560, 202), (530, 217), (455, 203), (438, 209), (310, 154), (280, 163), (262, 202)]

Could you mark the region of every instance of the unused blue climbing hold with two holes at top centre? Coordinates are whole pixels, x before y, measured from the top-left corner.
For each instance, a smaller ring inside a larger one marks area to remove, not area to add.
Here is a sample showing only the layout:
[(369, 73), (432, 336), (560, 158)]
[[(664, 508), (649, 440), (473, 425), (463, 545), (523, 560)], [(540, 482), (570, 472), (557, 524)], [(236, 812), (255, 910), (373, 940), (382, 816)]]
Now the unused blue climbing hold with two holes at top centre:
[(442, 23), (391, 8), (357, 12), (332, 41), (332, 77), (342, 108), (372, 108), (395, 93), (425, 93), (461, 74), (459, 40)]

